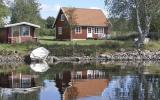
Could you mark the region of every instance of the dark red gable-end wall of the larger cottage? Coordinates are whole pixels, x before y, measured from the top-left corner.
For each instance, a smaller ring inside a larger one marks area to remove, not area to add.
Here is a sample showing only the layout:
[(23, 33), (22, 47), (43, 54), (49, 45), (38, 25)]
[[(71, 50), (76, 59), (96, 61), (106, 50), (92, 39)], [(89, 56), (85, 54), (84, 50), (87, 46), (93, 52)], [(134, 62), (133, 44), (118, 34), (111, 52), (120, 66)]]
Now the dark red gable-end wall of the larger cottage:
[[(64, 40), (64, 39), (70, 39), (70, 29), (69, 24), (65, 18), (64, 21), (61, 21), (61, 14), (63, 14), (62, 11), (58, 14), (57, 21), (56, 21), (56, 39)], [(58, 27), (62, 27), (62, 34), (58, 34)]]

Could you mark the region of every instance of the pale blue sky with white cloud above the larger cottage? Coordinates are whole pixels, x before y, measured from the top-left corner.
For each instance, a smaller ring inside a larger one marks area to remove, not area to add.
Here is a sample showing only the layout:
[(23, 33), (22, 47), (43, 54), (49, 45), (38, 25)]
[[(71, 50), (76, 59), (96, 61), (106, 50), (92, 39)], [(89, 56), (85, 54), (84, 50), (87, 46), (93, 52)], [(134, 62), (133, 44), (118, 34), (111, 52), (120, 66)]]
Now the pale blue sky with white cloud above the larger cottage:
[(39, 0), (41, 3), (41, 16), (46, 19), (49, 16), (56, 17), (60, 7), (96, 8), (102, 9), (107, 16), (104, 0)]

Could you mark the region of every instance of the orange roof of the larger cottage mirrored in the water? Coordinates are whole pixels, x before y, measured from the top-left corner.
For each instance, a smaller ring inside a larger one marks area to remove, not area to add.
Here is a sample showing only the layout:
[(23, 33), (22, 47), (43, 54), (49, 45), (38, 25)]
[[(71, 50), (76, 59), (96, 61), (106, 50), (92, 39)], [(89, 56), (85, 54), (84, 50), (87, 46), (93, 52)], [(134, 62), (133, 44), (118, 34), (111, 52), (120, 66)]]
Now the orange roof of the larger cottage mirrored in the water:
[[(108, 79), (77, 80), (67, 89), (75, 88), (72, 93), (77, 97), (100, 96), (109, 84)], [(64, 98), (67, 100), (70, 90), (65, 90)]]

